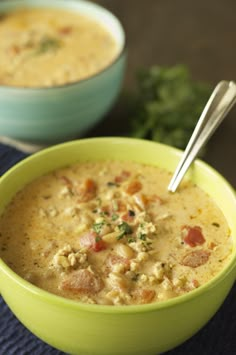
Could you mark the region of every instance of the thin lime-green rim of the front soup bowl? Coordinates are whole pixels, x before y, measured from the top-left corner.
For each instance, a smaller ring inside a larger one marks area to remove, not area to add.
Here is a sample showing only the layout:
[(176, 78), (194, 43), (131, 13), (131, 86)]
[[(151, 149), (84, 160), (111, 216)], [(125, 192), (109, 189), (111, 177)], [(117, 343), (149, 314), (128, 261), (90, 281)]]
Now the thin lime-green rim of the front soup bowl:
[[(32, 156), (29, 156), (25, 158), (23, 161), (17, 163), (15, 166), (10, 168), (5, 174), (2, 175), (0, 178), (0, 184), (2, 180), (7, 179), (8, 175), (12, 174), (14, 170), (17, 170), (21, 168), (21, 166), (27, 164), (28, 162), (37, 159), (37, 157), (41, 157), (43, 155), (50, 154), (50, 152), (61, 149), (63, 147), (69, 147), (73, 145), (77, 145), (80, 142), (82, 144), (89, 143), (90, 141), (93, 142), (132, 142), (132, 143), (144, 143), (145, 145), (159, 145), (165, 149), (168, 149), (170, 152), (172, 152), (174, 155), (181, 156), (182, 151), (170, 146), (167, 146), (165, 144), (157, 143), (157, 142), (151, 142), (148, 140), (144, 139), (136, 139), (136, 138), (127, 138), (127, 137), (99, 137), (99, 138), (85, 138), (85, 139), (78, 139), (75, 141), (70, 141), (66, 143), (61, 143), (57, 144), (55, 146), (46, 148), (40, 152), (37, 152), (33, 154)], [(195, 165), (199, 168), (203, 168), (206, 172), (210, 172), (211, 174), (213, 173), (217, 178), (219, 178), (222, 183), (224, 184), (225, 188), (228, 190), (228, 192), (232, 195), (232, 198), (235, 199), (235, 204), (236, 204), (236, 194), (233, 189), (233, 187), (229, 184), (229, 182), (220, 174), (218, 173), (214, 168), (212, 168), (210, 165), (207, 163), (201, 161), (201, 160), (196, 160)], [(235, 241), (236, 243), (236, 241)], [(164, 310), (166, 308), (172, 308), (175, 306), (178, 306), (180, 304), (188, 303), (191, 302), (193, 299), (196, 299), (197, 297), (200, 297), (201, 294), (209, 292), (212, 288), (218, 286), (227, 276), (229, 276), (230, 273), (234, 272), (234, 278), (235, 278), (235, 271), (236, 271), (236, 248), (234, 248), (232, 252), (232, 257), (229, 263), (223, 268), (222, 271), (220, 271), (213, 279), (208, 281), (206, 284), (200, 286), (199, 288), (192, 290), (186, 294), (183, 294), (178, 297), (174, 297), (172, 299), (166, 300), (166, 301), (160, 301), (160, 302), (154, 302), (154, 303), (149, 303), (149, 304), (143, 304), (143, 305), (97, 305), (97, 304), (86, 304), (82, 303), (79, 301), (74, 301), (71, 299), (64, 298), (62, 296), (55, 295), (53, 293), (50, 293), (48, 291), (45, 291), (43, 289), (40, 289), (39, 287), (31, 284), (30, 282), (26, 281), (23, 279), (21, 276), (16, 274), (1, 258), (0, 258), (0, 271), (3, 271), (7, 277), (9, 277), (13, 282), (16, 282), (18, 286), (23, 287), (25, 290), (30, 292), (31, 294), (34, 294), (35, 296), (39, 297), (41, 301), (53, 304), (54, 306), (61, 306), (63, 309), (73, 309), (74, 311), (77, 312), (89, 312), (89, 313), (100, 313), (100, 314), (117, 314), (124, 316), (126, 314), (139, 314), (139, 313), (149, 313), (149, 312), (157, 312)], [(0, 284), (0, 293), (4, 293), (3, 289), (1, 289), (1, 284)], [(4, 297), (4, 295), (3, 295)], [(222, 299), (223, 301), (224, 299)]]

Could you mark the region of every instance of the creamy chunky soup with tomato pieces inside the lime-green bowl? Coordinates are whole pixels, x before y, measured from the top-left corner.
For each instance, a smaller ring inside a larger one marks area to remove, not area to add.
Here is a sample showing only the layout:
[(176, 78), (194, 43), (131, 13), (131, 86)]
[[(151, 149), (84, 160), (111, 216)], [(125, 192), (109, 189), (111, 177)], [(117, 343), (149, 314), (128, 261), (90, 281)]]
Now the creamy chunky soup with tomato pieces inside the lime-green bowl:
[(226, 220), (202, 190), (138, 163), (87, 162), (38, 178), (0, 220), (2, 258), (26, 280), (82, 302), (167, 300), (228, 262)]

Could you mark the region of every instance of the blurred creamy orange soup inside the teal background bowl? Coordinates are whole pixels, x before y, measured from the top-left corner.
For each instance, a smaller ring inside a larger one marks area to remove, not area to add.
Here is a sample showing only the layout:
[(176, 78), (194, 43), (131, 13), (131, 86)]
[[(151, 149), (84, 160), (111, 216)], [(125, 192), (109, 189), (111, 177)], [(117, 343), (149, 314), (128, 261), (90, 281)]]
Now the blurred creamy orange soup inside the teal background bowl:
[(92, 18), (60, 9), (19, 9), (0, 16), (0, 85), (47, 87), (90, 77), (119, 48)]

